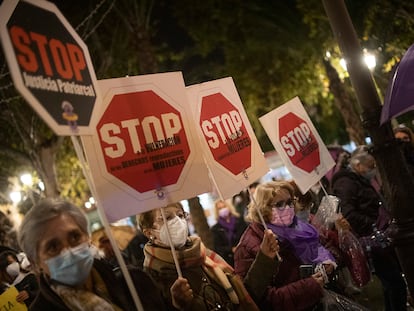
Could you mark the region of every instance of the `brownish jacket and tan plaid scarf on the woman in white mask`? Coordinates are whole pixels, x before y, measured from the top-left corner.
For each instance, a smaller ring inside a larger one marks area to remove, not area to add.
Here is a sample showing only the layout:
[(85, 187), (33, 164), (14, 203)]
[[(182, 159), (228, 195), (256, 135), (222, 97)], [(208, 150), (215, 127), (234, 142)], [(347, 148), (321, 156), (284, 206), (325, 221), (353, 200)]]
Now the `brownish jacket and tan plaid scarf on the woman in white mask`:
[[(172, 304), (170, 288), (178, 277), (177, 269), (173, 262), (173, 256), (169, 248), (165, 248), (153, 243), (147, 243), (144, 249), (145, 261), (144, 269), (147, 271), (158, 286), (161, 288), (165, 299), (169, 303), (171, 310), (176, 310)], [(237, 278), (239, 282), (234, 282), (233, 269), (224, 263), (223, 259), (218, 258), (215, 252), (205, 248), (199, 237), (189, 237), (185, 247), (176, 250), (179, 259), (179, 265), (182, 277), (188, 280), (193, 291), (194, 298), (185, 306), (188, 311), (246, 311), (258, 310), (256, 304), (250, 298), (251, 293), (246, 295), (243, 282)], [(210, 258), (210, 260), (206, 260)], [(239, 304), (232, 303), (228, 291), (220, 281), (221, 277), (226, 278), (225, 274), (220, 277), (211, 270), (211, 263), (227, 274), (227, 278), (231, 283), (235, 294), (239, 299)], [(223, 265), (226, 265), (224, 267)], [(254, 274), (254, 273), (253, 273)], [(236, 276), (236, 275), (235, 275)], [(260, 279), (261, 275), (254, 274), (253, 279)], [(243, 293), (242, 293), (243, 291)], [(247, 297), (249, 296), (249, 297)]]

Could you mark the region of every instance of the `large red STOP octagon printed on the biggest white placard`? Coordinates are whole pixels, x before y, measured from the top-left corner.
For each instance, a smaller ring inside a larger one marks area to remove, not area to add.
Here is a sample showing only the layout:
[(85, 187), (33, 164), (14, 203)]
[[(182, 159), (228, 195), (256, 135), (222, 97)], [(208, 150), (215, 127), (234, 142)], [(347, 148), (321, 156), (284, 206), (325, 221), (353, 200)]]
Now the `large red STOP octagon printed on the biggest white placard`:
[(190, 155), (179, 111), (152, 90), (113, 96), (97, 132), (107, 172), (141, 193), (175, 184)]

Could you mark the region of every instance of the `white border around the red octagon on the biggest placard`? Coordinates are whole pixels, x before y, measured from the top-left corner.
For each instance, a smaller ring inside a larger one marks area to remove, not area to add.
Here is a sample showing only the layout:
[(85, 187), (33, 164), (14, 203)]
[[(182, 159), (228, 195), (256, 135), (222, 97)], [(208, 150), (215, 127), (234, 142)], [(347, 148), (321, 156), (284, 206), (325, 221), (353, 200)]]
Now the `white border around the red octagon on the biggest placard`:
[[(83, 136), (82, 142), (95, 181), (96, 191), (99, 198), (103, 201), (105, 213), (110, 221), (211, 191), (207, 167), (202, 158), (200, 147), (197, 143), (198, 140), (194, 136), (195, 129), (188, 119), (191, 116), (190, 111), (186, 110), (184, 102), (180, 102), (167, 95), (177, 93), (177, 84), (171, 83), (171, 79), (179, 79), (180, 77), (182, 79), (181, 73), (171, 72), (98, 81), (103, 94), (103, 107), (100, 109), (101, 115), (106, 110), (114, 95), (152, 90), (167, 103), (174, 103), (173, 107), (181, 114), (183, 129), (185, 130), (190, 146), (190, 154), (177, 182), (173, 185), (163, 187), (161, 189), (163, 197), (157, 197), (157, 189), (141, 193), (108, 173), (97, 129), (95, 129), (95, 135)], [(183, 101), (185, 101), (184, 84), (182, 93)], [(199, 191), (200, 189), (204, 189), (204, 191)], [(183, 196), (182, 193), (188, 193), (188, 195)], [(116, 203), (115, 198), (119, 199), (118, 203)], [(121, 204), (127, 204), (127, 210), (133, 212), (122, 212), (122, 217), (115, 211), (108, 212), (112, 209), (112, 204), (120, 204), (120, 202), (123, 202)]]

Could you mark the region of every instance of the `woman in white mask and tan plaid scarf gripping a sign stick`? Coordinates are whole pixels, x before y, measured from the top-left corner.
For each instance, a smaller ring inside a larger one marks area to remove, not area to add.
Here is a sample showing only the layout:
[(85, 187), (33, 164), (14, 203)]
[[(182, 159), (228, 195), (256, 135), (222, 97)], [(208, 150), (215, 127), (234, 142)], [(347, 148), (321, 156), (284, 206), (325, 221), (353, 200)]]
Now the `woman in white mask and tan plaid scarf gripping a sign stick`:
[[(188, 236), (185, 219), (177, 216), (177, 204), (164, 208), (167, 223), (160, 209), (138, 215), (138, 223), (149, 239), (144, 247), (144, 270), (157, 282), (171, 309), (178, 310), (258, 310), (250, 295), (256, 297), (265, 290), (260, 283), (260, 272), (253, 267), (252, 282), (243, 283), (218, 254), (207, 249), (199, 237)], [(179, 210), (179, 209), (178, 209)], [(170, 248), (168, 232), (176, 250), (182, 277), (178, 276)], [(277, 268), (274, 259), (277, 241), (268, 231), (261, 243), (255, 267), (270, 265)], [(256, 282), (256, 283), (255, 283)]]

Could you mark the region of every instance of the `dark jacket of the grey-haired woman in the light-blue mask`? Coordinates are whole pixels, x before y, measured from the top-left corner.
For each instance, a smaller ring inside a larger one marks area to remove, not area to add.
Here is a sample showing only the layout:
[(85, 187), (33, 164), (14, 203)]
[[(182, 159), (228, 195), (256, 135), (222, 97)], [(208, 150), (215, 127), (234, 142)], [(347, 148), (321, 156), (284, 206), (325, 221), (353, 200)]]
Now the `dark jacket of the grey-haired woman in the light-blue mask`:
[[(102, 260), (95, 260), (93, 266), (105, 282), (111, 295), (111, 301), (124, 311), (136, 311), (122, 274), (113, 272), (111, 267)], [(145, 311), (167, 310), (162, 295), (153, 280), (138, 268), (131, 267), (129, 272)], [(40, 292), (29, 310), (70, 311), (62, 299), (50, 288), (43, 276), (40, 277)]]

